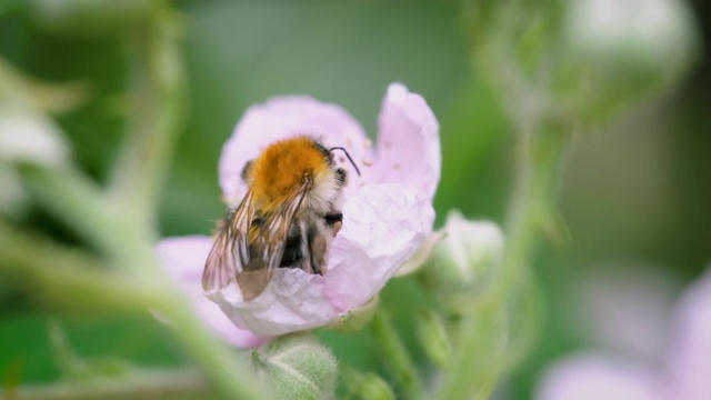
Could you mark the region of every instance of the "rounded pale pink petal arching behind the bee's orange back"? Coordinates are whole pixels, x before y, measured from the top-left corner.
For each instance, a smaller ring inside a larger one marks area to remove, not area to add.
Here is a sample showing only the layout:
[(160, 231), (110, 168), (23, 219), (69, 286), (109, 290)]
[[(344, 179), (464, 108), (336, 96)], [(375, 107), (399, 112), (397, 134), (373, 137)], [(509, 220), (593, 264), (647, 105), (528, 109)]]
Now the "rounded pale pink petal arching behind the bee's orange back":
[[(362, 162), (373, 159), (372, 144), (363, 128), (339, 106), (304, 96), (273, 98), (263, 104), (250, 107), (222, 148), (219, 177), (228, 203), (237, 206), (247, 191), (240, 178), (244, 163), (270, 143), (297, 134), (321, 139), (327, 148), (346, 148), (361, 170), (364, 169)], [(362, 178), (338, 150), (333, 156), (337, 164), (349, 173), (346, 188), (348, 196), (361, 186)]]

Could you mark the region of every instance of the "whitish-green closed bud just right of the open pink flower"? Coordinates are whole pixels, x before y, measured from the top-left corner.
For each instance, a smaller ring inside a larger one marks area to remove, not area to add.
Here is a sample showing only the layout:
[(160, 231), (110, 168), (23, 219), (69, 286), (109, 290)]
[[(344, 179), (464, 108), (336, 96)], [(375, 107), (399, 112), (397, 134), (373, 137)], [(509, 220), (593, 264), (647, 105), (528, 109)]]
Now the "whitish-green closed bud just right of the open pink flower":
[(467, 306), (463, 298), (481, 292), (497, 277), (503, 234), (494, 223), (469, 221), (459, 211), (449, 213), (442, 231), (444, 237), (432, 249), (420, 280), (444, 306), (457, 311)]

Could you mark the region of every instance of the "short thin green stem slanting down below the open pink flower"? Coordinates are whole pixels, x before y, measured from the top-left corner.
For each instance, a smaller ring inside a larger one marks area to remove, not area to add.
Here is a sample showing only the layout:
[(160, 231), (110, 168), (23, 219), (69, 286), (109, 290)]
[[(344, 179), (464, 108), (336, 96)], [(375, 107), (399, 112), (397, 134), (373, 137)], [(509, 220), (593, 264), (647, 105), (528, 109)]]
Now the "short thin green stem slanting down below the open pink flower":
[(424, 396), (424, 386), (420, 380), (417, 367), (410, 358), (404, 343), (398, 336), (395, 328), (390, 322), (390, 317), (385, 311), (378, 309), (371, 322), (371, 331), (378, 340), (383, 359), (390, 363), (395, 374), (395, 379), (400, 383), (404, 399), (422, 399)]

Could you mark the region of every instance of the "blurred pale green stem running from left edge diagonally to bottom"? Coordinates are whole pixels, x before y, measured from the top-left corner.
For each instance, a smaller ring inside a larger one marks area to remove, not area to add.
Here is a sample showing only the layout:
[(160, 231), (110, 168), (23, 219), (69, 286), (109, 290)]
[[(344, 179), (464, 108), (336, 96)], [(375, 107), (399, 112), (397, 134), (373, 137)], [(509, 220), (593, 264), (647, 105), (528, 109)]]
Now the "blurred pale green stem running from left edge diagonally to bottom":
[[(159, 269), (151, 262), (147, 260), (140, 266)], [(256, 383), (254, 373), (207, 331), (187, 301), (168, 287), (167, 278), (148, 284), (146, 280), (137, 282), (129, 279), (130, 274), (109, 273), (106, 269), (107, 266), (83, 253), (0, 224), (0, 271), (28, 281), (36, 287), (33, 292), (78, 308), (131, 312), (152, 308), (171, 321), (176, 336), (230, 398), (268, 398)]]

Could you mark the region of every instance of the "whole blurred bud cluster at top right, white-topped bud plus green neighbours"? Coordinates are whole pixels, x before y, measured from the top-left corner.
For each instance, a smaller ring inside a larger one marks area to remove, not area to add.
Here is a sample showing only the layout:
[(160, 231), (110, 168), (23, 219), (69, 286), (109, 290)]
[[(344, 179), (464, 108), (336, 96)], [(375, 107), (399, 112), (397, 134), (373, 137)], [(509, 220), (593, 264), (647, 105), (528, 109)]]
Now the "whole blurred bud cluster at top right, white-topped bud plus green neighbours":
[(521, 131), (597, 129), (689, 71), (699, 32), (684, 0), (465, 0), (479, 71)]

